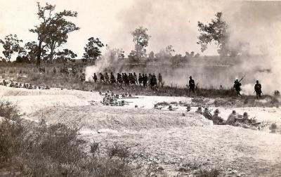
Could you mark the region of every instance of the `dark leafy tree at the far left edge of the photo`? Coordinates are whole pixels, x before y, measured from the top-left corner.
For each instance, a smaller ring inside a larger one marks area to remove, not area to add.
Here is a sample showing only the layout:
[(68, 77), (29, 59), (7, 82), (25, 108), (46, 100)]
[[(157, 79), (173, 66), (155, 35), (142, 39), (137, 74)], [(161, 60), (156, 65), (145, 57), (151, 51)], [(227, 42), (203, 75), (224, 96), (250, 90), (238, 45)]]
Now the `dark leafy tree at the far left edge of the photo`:
[(8, 34), (4, 40), (0, 39), (0, 43), (3, 45), (4, 51), (2, 52), (8, 61), (11, 60), (11, 56), (14, 52), (21, 52), (20, 42), (16, 34)]

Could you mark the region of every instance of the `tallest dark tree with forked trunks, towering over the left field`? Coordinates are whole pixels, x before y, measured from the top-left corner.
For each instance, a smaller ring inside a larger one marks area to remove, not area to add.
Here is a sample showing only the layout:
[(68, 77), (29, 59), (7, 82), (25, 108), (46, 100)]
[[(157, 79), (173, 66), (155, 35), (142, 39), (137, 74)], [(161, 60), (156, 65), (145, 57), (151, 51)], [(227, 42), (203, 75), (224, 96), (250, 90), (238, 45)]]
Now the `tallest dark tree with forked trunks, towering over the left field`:
[(52, 60), (55, 48), (65, 44), (68, 34), (78, 30), (79, 27), (66, 20), (69, 17), (77, 17), (77, 12), (64, 10), (54, 13), (55, 6), (48, 3), (46, 3), (46, 6), (40, 6), (37, 2), (37, 6), (40, 24), (35, 26), (34, 29), (30, 29), (30, 32), (36, 33), (38, 37), (37, 65), (40, 65), (41, 52), (44, 47), (50, 48)]

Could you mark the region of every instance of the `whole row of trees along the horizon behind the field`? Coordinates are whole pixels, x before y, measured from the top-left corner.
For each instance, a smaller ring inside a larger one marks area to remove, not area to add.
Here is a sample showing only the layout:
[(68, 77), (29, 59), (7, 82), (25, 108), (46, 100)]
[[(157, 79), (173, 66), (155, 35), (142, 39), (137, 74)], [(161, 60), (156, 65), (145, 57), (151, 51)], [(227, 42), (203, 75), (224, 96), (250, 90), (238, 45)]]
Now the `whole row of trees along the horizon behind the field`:
[[(78, 13), (76, 11), (60, 11), (55, 12), (55, 6), (46, 3), (45, 6), (41, 6), (37, 2), (37, 18), (39, 24), (35, 25), (30, 32), (37, 34), (37, 41), (28, 41), (22, 45), (22, 40), (18, 39), (16, 34), (8, 34), (4, 39), (0, 39), (4, 51), (2, 52), (6, 59), (10, 62), (11, 56), (14, 53), (18, 53), (16, 62), (25, 63), (37, 63), (39, 66), (41, 60), (53, 63), (56, 62), (74, 62), (74, 58), (77, 58), (77, 54), (70, 49), (61, 49), (63, 44), (67, 43), (68, 36), (71, 32), (77, 31), (80, 28), (73, 22), (68, 20), (69, 18), (77, 18)], [(207, 46), (214, 42), (218, 46), (218, 54), (223, 56), (235, 56), (241, 53), (242, 45), (240, 48), (230, 48), (228, 46), (228, 39), (230, 34), (228, 33), (228, 24), (222, 18), (222, 13), (218, 12), (215, 15), (215, 19), (211, 20), (209, 24), (204, 25), (202, 22), (197, 24), (200, 35), (197, 37), (200, 44), (201, 51), (204, 52)], [(128, 59), (131, 62), (139, 62), (142, 59), (157, 60), (159, 58), (171, 58), (173, 56), (181, 57), (181, 54), (176, 54), (173, 46), (169, 45), (163, 48), (159, 53), (151, 51), (147, 54), (146, 47), (151, 36), (148, 34), (148, 29), (143, 27), (136, 28), (131, 32), (133, 37), (133, 44), (135, 45)], [(84, 46), (84, 55), (82, 61), (94, 62), (101, 56), (100, 49), (105, 45), (99, 38), (90, 37)], [(107, 45), (106, 45), (107, 46)], [(118, 59), (124, 59), (124, 51), (119, 48), (110, 49), (111, 57), (117, 57)], [(185, 52), (185, 57), (198, 57), (200, 53), (194, 51)]]

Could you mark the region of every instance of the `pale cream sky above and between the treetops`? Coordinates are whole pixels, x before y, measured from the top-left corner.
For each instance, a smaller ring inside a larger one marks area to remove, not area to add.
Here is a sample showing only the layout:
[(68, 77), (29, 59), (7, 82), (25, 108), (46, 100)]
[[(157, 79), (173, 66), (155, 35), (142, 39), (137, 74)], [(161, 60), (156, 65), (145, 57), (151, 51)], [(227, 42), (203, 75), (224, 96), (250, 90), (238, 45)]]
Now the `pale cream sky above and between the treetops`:
[[(154, 51), (157, 53), (161, 48), (172, 45), (176, 53), (181, 53), (182, 55), (184, 55), (185, 51), (195, 51), (197, 53), (200, 52), (200, 46), (196, 44), (197, 35), (199, 34), (197, 31), (198, 20), (210, 22), (216, 12), (222, 11), (224, 17), (230, 23), (244, 24), (243, 20), (237, 19), (237, 17), (241, 17), (241, 9), (243, 12), (251, 9), (249, 4), (244, 6), (240, 5), (242, 4), (241, 2), (236, 2), (235, 6), (233, 6), (233, 3), (229, 1), (37, 1), (41, 5), (46, 2), (55, 4), (55, 11), (66, 9), (78, 12), (78, 17), (73, 18), (72, 21), (81, 29), (77, 32), (72, 32), (69, 35), (67, 44), (63, 46), (63, 48), (70, 48), (74, 53), (77, 53), (78, 58), (83, 55), (84, 46), (89, 37), (98, 37), (104, 44), (109, 44), (112, 48), (123, 48), (127, 55), (133, 50), (130, 32), (139, 26), (148, 28), (148, 34), (152, 36), (147, 48), (148, 52)], [(36, 14), (37, 1), (0, 0), (0, 39), (4, 39), (7, 34), (17, 34), (24, 43), (37, 40), (36, 34), (28, 31), (28, 29), (39, 23)], [(245, 8), (243, 9), (243, 7)], [(268, 10), (271, 11), (270, 9)], [(276, 14), (273, 14), (273, 20), (275, 20), (275, 16)], [(255, 21), (256, 19), (254, 19)], [(239, 28), (241, 31), (244, 29), (247, 31), (249, 27), (240, 26)], [(248, 34), (244, 35), (247, 36)], [(2, 50), (3, 48), (0, 47), (0, 55), (3, 56)], [(216, 54), (214, 46), (210, 46), (207, 51), (202, 53), (202, 55), (213, 54)]]

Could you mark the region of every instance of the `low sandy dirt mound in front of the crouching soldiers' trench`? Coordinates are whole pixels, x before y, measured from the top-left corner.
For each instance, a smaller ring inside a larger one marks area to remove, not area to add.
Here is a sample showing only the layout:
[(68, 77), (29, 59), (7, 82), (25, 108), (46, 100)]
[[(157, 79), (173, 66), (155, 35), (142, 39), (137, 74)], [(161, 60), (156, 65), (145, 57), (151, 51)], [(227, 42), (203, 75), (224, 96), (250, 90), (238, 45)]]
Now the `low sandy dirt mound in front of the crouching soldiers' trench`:
[[(145, 110), (141, 108), (80, 106), (46, 107), (30, 114), (37, 119), (44, 115), (46, 122), (61, 122), (89, 129), (154, 129), (182, 126), (205, 126), (212, 122), (201, 114), (170, 112), (168, 110)], [(122, 115), (122, 116), (120, 116)]]

